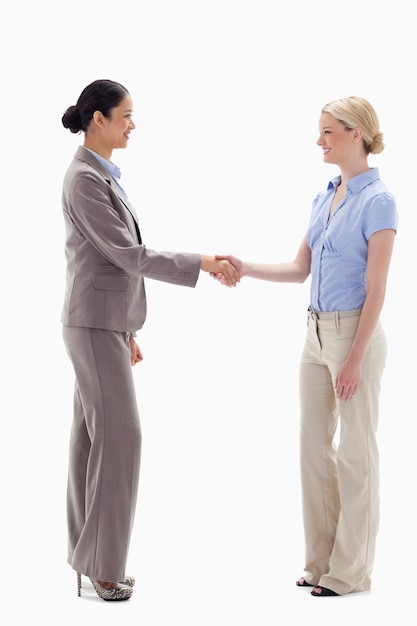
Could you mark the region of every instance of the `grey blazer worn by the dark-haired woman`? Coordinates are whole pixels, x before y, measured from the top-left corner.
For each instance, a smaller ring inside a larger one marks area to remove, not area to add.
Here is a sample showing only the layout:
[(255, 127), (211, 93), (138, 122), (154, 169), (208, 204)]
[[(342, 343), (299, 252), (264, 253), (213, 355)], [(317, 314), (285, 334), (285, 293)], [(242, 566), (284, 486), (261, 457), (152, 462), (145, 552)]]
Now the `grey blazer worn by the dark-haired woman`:
[(63, 324), (134, 332), (146, 318), (144, 277), (195, 287), (200, 255), (146, 248), (129, 200), (84, 146), (66, 172), (62, 205), (67, 259)]

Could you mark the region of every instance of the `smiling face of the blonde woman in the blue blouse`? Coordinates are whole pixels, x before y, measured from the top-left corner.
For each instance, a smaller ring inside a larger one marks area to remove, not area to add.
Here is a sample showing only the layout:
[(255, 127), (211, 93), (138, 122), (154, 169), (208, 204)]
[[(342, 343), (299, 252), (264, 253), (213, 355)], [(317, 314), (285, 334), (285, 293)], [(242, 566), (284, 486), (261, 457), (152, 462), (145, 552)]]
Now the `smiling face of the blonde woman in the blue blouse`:
[(317, 145), (323, 150), (325, 163), (341, 165), (357, 148), (358, 129), (346, 129), (345, 125), (330, 113), (322, 113), (319, 121)]

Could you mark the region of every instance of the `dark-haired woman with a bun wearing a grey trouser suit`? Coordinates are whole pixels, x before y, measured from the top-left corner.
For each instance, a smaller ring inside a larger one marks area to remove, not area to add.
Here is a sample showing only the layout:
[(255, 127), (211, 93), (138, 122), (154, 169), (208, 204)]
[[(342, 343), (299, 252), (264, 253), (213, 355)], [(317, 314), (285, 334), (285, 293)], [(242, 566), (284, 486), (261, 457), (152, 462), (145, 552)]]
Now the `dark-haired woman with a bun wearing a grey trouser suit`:
[(200, 271), (237, 282), (226, 260), (157, 252), (142, 243), (139, 221), (113, 150), (126, 148), (133, 104), (128, 90), (96, 80), (62, 116), (84, 133), (63, 183), (66, 291), (61, 321), (75, 372), (67, 516), (68, 563), (89, 577), (100, 598), (131, 597), (125, 566), (139, 480), (141, 430), (131, 365), (146, 317), (144, 278), (195, 287)]

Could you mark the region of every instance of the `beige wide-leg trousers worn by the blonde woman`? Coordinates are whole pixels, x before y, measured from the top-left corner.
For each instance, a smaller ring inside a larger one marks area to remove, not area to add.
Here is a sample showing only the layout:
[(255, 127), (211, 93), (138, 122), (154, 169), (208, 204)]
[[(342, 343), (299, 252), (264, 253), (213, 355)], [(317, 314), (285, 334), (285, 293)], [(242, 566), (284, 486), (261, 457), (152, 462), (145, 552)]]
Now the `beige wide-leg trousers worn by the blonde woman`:
[(323, 320), (309, 314), (300, 364), (305, 579), (341, 595), (370, 589), (379, 524), (376, 431), (387, 352), (380, 323), (355, 396), (342, 402), (334, 391), (358, 322), (343, 312)]

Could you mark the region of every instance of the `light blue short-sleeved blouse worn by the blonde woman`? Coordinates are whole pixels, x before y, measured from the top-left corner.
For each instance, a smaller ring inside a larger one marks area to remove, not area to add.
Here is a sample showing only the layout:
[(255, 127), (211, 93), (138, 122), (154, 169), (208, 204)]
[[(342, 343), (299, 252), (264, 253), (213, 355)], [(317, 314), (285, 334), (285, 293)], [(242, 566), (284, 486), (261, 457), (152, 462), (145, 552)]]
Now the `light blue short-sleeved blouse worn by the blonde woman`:
[(307, 241), (311, 248), (310, 306), (315, 311), (360, 309), (366, 295), (368, 240), (385, 228), (397, 230), (396, 202), (371, 168), (347, 182), (346, 195), (330, 205), (340, 176), (313, 201)]

